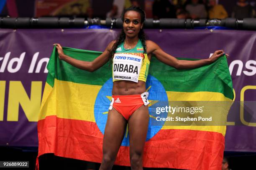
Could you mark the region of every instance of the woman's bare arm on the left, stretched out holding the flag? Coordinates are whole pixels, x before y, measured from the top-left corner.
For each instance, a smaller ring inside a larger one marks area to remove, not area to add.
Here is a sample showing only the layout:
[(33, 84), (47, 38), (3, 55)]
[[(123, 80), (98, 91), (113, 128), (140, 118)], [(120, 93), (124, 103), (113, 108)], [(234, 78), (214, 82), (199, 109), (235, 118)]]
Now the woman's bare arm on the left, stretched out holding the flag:
[(67, 63), (79, 69), (86, 70), (89, 72), (94, 72), (95, 70), (99, 69), (102, 65), (104, 65), (106, 62), (108, 62), (108, 60), (110, 59), (110, 51), (114, 43), (115, 43), (115, 40), (110, 42), (110, 44), (105, 49), (105, 51), (99, 57), (95, 58), (93, 61), (82, 61), (82, 60), (77, 60), (72, 57), (69, 57), (68, 55), (64, 54), (61, 45), (59, 44), (54, 44), (54, 45), (56, 45), (60, 60), (64, 60)]

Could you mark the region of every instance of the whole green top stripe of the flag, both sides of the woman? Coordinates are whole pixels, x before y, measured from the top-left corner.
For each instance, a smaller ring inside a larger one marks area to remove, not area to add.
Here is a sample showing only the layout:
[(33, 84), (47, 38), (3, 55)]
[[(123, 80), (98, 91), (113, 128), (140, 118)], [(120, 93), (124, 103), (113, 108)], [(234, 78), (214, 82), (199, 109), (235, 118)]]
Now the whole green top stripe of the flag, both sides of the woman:
[[(84, 61), (92, 61), (102, 54), (102, 52), (79, 50), (68, 47), (63, 47), (63, 51), (66, 55)], [(178, 59), (196, 60), (184, 58)], [(82, 84), (103, 85), (112, 77), (112, 63), (110, 63), (110, 61), (95, 72), (87, 72), (73, 67), (67, 62), (59, 60), (55, 47), (51, 54), (47, 69), (50, 74), (47, 76), (47, 82), (51, 86), (54, 84), (54, 78)], [(150, 75), (156, 77), (156, 79), (162, 83), (166, 91), (220, 92), (223, 93), (225, 97), (233, 99), (233, 86), (226, 57), (220, 57), (216, 62), (210, 65), (189, 70), (177, 70), (174, 67), (159, 62), (156, 57), (152, 57), (150, 68), (148, 69), (147, 65), (147, 70), (146, 75), (148, 75), (149, 72)]]

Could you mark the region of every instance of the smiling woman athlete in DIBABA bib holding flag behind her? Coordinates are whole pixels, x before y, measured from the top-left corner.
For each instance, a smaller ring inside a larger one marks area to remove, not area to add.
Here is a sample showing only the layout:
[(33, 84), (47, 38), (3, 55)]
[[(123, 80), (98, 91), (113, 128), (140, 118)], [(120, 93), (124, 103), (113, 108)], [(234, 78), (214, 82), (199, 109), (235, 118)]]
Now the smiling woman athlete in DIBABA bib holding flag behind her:
[(56, 44), (59, 59), (74, 67), (93, 72), (113, 60), (112, 102), (103, 138), (103, 157), (100, 170), (110, 170), (125, 134), (128, 123), (130, 161), (132, 170), (142, 170), (143, 148), (148, 130), (148, 92), (146, 77), (152, 55), (177, 69), (191, 69), (208, 65), (224, 55), (217, 50), (204, 60), (177, 60), (164, 52), (155, 42), (145, 39), (145, 13), (139, 7), (129, 7), (122, 15), (123, 29), (117, 40), (110, 42), (105, 51), (92, 62), (76, 60), (64, 54)]

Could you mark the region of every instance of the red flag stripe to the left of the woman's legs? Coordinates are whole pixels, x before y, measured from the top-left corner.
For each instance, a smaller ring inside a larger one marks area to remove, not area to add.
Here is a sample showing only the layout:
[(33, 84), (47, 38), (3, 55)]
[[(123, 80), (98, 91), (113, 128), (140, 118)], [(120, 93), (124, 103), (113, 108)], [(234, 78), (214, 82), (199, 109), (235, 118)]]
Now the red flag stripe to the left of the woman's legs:
[(47, 116), (38, 121), (38, 155), (101, 162), (103, 135), (95, 122)]

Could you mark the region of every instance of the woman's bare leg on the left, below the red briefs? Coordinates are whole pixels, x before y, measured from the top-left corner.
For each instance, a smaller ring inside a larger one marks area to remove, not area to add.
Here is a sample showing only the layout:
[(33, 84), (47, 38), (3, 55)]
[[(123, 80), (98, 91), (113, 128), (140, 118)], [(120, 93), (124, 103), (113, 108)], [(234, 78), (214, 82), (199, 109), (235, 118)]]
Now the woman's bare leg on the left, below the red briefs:
[(111, 170), (120, 148), (127, 120), (113, 107), (108, 112), (108, 120), (103, 137), (103, 157), (100, 170)]

